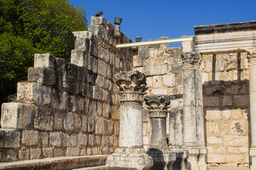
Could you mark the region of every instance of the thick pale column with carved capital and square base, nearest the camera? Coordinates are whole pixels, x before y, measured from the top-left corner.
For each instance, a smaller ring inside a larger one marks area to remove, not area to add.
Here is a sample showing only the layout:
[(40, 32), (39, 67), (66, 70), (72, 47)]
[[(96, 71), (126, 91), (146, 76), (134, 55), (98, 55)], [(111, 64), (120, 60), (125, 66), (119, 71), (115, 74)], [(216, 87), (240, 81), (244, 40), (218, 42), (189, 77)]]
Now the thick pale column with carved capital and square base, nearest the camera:
[(119, 148), (107, 158), (107, 169), (150, 169), (152, 158), (143, 149), (142, 101), (146, 77), (138, 71), (114, 76), (119, 87)]

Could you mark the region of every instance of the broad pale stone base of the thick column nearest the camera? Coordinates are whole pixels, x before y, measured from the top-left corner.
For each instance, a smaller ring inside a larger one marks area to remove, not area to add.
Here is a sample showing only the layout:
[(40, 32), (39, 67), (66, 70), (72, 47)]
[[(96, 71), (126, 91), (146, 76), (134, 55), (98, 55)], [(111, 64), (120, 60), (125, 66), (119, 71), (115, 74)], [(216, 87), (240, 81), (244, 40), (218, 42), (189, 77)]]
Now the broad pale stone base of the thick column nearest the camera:
[(107, 169), (147, 170), (153, 166), (153, 159), (146, 154), (145, 149), (117, 148), (107, 157)]

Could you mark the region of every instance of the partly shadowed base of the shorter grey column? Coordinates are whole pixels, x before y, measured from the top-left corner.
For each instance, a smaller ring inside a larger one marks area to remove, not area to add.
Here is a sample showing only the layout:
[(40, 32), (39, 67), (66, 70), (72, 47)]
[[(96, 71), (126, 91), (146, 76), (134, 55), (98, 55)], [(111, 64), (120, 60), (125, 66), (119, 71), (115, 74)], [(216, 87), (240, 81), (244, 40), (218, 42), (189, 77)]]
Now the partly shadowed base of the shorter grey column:
[(169, 149), (149, 149), (149, 157), (153, 158), (153, 166), (151, 169), (172, 170), (176, 161), (176, 154), (169, 152)]

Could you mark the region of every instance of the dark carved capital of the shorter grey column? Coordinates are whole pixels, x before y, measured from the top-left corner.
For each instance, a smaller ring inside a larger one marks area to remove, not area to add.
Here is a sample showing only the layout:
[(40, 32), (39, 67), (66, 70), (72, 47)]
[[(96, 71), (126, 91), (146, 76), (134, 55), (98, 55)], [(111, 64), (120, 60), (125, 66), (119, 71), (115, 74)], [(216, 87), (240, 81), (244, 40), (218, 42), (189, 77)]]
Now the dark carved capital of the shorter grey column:
[(149, 109), (149, 118), (167, 118), (167, 108), (170, 98), (166, 95), (148, 95), (144, 97), (146, 108)]

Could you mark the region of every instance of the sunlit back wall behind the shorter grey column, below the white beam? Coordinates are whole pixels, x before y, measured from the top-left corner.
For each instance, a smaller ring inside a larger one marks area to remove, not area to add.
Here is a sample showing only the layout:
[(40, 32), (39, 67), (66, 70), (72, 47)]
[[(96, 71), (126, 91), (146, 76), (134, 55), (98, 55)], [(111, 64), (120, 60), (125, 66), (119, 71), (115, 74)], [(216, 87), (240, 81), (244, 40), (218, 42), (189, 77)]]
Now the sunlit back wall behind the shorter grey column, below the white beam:
[[(146, 84), (149, 89), (147, 94), (179, 95), (171, 100), (172, 111), (182, 110), (183, 107), (183, 79), (182, 79), (182, 47), (169, 48), (168, 44), (142, 46), (134, 50), (134, 69), (146, 74)], [(182, 111), (176, 115), (171, 115), (171, 120), (181, 120)], [(169, 128), (169, 118), (167, 120), (167, 135), (169, 129), (176, 131), (180, 135), (173, 139), (173, 145), (181, 145), (182, 140), (182, 120), (179, 125), (171, 124)], [(143, 110), (143, 130), (144, 148), (149, 147), (150, 132), (149, 115), (146, 109)], [(181, 139), (180, 139), (181, 138)]]

